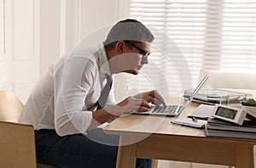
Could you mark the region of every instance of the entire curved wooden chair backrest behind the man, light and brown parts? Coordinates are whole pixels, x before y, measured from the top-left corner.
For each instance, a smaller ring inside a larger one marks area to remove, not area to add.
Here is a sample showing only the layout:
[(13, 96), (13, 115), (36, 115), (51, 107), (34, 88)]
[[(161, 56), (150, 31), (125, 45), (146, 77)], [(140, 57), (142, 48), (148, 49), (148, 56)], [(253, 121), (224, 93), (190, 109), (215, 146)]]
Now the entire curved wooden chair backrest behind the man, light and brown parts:
[(18, 123), (23, 106), (13, 92), (0, 91), (0, 167), (37, 167), (34, 128)]

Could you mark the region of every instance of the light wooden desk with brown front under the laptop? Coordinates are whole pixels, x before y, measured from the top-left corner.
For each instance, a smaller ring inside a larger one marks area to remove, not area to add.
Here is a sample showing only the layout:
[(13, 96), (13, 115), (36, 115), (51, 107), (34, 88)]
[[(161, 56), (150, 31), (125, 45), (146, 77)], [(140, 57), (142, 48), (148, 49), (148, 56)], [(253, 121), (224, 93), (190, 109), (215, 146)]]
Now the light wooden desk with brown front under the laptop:
[[(198, 105), (192, 103), (182, 115), (188, 115)], [(105, 126), (104, 132), (120, 135), (116, 167), (135, 167), (136, 158), (254, 167), (256, 140), (206, 137), (203, 129), (170, 124), (173, 119), (127, 115)]]

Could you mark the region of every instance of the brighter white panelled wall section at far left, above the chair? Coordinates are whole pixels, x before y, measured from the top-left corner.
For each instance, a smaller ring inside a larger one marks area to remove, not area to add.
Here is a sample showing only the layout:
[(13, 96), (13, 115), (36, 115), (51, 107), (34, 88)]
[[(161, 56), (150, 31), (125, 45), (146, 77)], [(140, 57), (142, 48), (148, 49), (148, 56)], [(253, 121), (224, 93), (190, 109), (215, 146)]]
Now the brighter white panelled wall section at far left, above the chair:
[(24, 103), (39, 76), (39, 0), (1, 3), (0, 89), (15, 92)]

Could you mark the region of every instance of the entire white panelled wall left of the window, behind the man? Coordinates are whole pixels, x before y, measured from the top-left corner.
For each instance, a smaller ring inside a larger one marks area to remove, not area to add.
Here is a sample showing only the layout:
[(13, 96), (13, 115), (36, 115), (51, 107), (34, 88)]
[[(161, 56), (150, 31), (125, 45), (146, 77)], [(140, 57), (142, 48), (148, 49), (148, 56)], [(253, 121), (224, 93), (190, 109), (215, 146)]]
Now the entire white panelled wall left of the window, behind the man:
[(6, 22), (5, 31), (1, 31), (5, 50), (2, 46), (0, 89), (15, 92), (23, 103), (49, 64), (68, 53), (91, 31), (115, 23), (118, 15), (118, 0), (0, 3), (2, 11), (6, 7), (5, 14), (1, 14), (1, 20), (4, 17)]

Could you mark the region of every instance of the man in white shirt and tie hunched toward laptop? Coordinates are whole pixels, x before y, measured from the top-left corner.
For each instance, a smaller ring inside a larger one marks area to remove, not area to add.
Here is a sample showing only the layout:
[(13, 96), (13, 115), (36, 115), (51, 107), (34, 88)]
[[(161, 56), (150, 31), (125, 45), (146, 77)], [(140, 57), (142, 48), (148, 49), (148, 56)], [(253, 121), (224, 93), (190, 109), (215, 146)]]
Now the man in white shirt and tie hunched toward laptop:
[[(77, 48), (51, 64), (27, 99), (20, 122), (32, 124), (37, 159), (58, 167), (115, 167), (118, 136), (96, 126), (148, 103), (165, 104), (156, 91), (143, 92), (115, 104), (112, 75), (137, 75), (148, 64), (154, 36), (137, 20), (122, 20), (109, 31), (102, 47)], [(107, 97), (106, 97), (107, 95)], [(105, 98), (104, 98), (105, 97)], [(137, 167), (149, 161), (137, 159)]]

